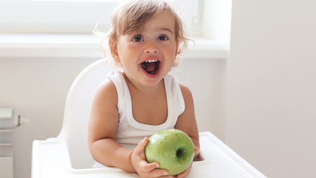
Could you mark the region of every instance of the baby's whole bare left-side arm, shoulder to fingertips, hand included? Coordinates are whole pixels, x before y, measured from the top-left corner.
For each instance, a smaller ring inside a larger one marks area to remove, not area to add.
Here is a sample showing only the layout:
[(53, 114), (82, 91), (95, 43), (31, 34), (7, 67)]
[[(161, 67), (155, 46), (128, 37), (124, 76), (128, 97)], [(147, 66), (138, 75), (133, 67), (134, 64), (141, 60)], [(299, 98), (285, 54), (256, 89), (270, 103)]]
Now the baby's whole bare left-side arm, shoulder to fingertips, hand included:
[(88, 124), (88, 146), (94, 160), (107, 167), (137, 172), (140, 177), (167, 175), (166, 170), (155, 169), (159, 166), (157, 162), (146, 162), (144, 149), (148, 143), (147, 137), (134, 150), (116, 142), (119, 122), (117, 103), (115, 85), (112, 80), (106, 79), (97, 88)]

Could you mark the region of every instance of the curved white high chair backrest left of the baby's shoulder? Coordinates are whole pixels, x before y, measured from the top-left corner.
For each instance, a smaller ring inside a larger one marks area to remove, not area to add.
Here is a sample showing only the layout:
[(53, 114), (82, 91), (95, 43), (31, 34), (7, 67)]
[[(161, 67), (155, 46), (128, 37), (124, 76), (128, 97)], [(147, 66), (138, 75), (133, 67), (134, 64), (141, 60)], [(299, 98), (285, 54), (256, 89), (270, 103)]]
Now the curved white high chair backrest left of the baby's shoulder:
[(113, 69), (105, 59), (86, 67), (75, 79), (67, 95), (64, 121), (58, 139), (66, 141), (72, 168), (91, 168), (94, 160), (88, 149), (88, 120), (95, 90)]

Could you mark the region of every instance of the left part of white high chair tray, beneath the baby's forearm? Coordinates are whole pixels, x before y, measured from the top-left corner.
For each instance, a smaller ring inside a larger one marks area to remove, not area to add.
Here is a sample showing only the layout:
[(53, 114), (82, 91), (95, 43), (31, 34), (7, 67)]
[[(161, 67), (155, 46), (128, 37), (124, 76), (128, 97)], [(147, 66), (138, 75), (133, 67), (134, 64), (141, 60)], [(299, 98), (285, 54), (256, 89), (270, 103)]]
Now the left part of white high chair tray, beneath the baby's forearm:
[(119, 168), (72, 168), (67, 143), (58, 138), (33, 141), (31, 172), (32, 178), (135, 177)]

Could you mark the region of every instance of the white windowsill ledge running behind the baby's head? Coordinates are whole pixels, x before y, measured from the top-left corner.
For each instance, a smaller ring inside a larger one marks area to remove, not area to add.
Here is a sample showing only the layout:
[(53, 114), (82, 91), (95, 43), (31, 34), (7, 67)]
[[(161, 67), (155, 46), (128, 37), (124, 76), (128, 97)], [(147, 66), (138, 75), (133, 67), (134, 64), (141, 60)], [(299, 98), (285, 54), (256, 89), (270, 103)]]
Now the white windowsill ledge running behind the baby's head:
[[(195, 45), (189, 42), (185, 58), (228, 58), (227, 44), (201, 37), (193, 40)], [(0, 58), (103, 58), (100, 41), (93, 35), (0, 34)]]

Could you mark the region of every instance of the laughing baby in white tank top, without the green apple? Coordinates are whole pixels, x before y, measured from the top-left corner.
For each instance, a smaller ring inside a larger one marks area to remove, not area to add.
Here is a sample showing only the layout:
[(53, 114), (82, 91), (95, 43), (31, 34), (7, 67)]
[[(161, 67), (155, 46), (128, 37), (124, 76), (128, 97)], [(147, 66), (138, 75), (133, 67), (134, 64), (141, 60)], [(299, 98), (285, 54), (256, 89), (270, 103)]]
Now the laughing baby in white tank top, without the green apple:
[[(148, 137), (171, 128), (191, 137), (198, 156), (192, 94), (168, 75), (187, 40), (181, 19), (164, 0), (125, 1), (114, 9), (108, 44), (122, 71), (108, 73), (94, 96), (88, 146), (96, 162), (140, 177), (173, 177), (144, 154)], [(191, 166), (177, 177), (188, 175)]]

